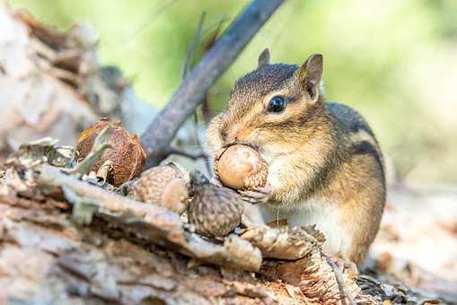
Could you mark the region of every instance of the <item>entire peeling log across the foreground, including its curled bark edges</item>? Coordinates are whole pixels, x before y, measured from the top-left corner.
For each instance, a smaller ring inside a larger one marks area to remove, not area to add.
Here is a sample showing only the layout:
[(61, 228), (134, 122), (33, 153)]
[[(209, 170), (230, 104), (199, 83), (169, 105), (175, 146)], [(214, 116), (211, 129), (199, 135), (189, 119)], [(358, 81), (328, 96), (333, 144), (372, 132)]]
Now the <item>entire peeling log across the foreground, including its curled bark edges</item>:
[[(68, 188), (73, 196), (91, 198), (97, 212), (94, 221), (81, 227), (71, 222), (68, 208), (62, 209), (68, 203), (48, 205), (45, 199), (24, 199), (18, 192), (0, 197), (0, 257), (6, 256), (0, 259), (0, 271), (6, 274), (0, 282), (7, 283), (7, 296), (14, 300), (44, 300), (40, 294), (44, 292), (71, 292), (61, 298), (121, 303), (151, 298), (202, 304), (208, 300), (252, 304), (293, 304), (297, 300), (342, 304), (351, 298), (365, 304), (437, 300), (379, 278), (368, 281), (371, 276), (350, 268), (340, 270), (341, 292), (336, 271), (321, 251), (323, 237), (313, 228), (268, 228), (243, 222), (244, 228), (220, 244), (188, 231), (180, 216), (163, 206), (136, 202), (48, 164), (32, 171), (21, 177), (8, 169), (1, 186), (8, 188), (5, 178), (13, 175), (13, 184), (24, 180), (38, 192), (40, 187)], [(33, 208), (15, 204), (23, 200)], [(297, 254), (290, 247), (298, 247)], [(29, 255), (44, 263), (18, 269), (21, 262), (15, 257), (23, 260)], [(190, 264), (189, 257), (197, 264)], [(229, 270), (258, 273), (248, 276)], [(8, 282), (10, 276), (15, 280)], [(283, 282), (275, 283), (277, 280)], [(28, 288), (21, 285), (20, 289), (19, 283)]]

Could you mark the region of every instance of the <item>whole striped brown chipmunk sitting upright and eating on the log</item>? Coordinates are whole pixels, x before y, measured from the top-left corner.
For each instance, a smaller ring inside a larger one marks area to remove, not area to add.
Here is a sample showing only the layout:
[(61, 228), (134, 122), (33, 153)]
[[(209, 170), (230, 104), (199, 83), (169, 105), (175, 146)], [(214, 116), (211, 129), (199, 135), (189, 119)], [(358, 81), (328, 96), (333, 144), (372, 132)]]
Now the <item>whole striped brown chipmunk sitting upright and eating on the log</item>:
[(360, 265), (379, 229), (386, 187), (382, 153), (354, 109), (328, 102), (323, 57), (301, 66), (269, 64), (234, 84), (226, 109), (209, 123), (206, 149), (248, 144), (268, 162), (268, 184), (241, 191), (263, 222), (286, 218), (326, 236), (324, 250)]

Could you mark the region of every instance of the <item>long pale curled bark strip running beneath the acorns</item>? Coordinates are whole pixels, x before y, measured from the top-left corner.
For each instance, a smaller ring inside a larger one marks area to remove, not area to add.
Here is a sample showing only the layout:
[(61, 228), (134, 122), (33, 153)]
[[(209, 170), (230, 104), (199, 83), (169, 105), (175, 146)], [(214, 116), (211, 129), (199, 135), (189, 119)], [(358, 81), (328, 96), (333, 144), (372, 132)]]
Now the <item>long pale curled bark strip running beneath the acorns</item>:
[(249, 242), (238, 236), (233, 235), (226, 239), (224, 245), (216, 245), (186, 231), (180, 222), (180, 216), (163, 206), (145, 204), (89, 185), (48, 165), (41, 165), (34, 172), (39, 186), (71, 189), (77, 196), (85, 198), (88, 204), (97, 205), (99, 213), (116, 215), (120, 223), (130, 227), (129, 231), (137, 233), (141, 238), (176, 248), (181, 253), (204, 262), (244, 270), (259, 270), (259, 249), (250, 246)]

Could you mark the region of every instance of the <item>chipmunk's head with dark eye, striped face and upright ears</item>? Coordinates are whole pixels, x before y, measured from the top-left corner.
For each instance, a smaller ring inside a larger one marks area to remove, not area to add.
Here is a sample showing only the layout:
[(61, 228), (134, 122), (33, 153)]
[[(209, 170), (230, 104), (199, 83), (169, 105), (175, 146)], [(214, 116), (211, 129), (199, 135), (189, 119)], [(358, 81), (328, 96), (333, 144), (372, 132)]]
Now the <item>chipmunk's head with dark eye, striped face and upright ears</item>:
[(323, 112), (322, 68), (320, 54), (301, 66), (270, 65), (265, 49), (258, 68), (236, 81), (216, 131), (208, 136), (217, 136), (222, 145), (250, 144), (266, 153), (294, 150)]

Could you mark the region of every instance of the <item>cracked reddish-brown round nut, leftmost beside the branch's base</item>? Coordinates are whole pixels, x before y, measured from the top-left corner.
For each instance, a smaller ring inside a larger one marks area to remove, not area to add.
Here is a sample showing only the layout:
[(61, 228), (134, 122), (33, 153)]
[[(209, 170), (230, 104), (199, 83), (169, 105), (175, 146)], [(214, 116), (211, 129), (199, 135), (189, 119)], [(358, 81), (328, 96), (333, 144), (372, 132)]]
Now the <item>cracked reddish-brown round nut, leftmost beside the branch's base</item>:
[(107, 181), (111, 185), (119, 187), (122, 183), (139, 176), (143, 171), (146, 157), (138, 136), (130, 135), (120, 126), (120, 122), (102, 118), (94, 126), (83, 130), (76, 144), (76, 161), (83, 160), (91, 152), (95, 138), (106, 126), (113, 127), (113, 131), (106, 141), (112, 148), (107, 149), (101, 155), (101, 159), (93, 165), (92, 170), (97, 172), (103, 163), (111, 161), (112, 170), (110, 170)]

